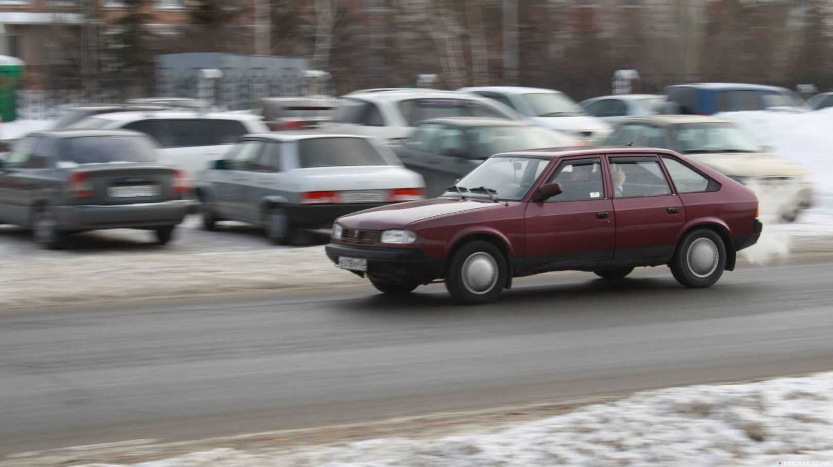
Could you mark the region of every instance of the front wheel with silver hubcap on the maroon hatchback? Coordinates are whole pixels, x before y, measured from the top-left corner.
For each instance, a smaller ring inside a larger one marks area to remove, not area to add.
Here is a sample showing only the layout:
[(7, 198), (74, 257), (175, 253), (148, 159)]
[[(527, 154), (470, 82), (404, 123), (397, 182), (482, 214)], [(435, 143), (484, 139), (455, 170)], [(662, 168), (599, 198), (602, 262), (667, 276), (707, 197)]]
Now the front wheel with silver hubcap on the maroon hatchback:
[[(470, 281), (466, 281), (464, 269), (475, 266), (471, 264), (471, 261), (484, 261), (476, 267), (487, 272), (490, 268), (494, 268), (495, 275), (471, 278)], [(488, 241), (472, 241), (461, 246), (451, 256), (446, 271), (446, 289), (457, 303), (490, 303), (497, 300), (497, 296), (501, 295), (501, 291), (506, 286), (508, 270), (506, 258), (497, 246)]]

